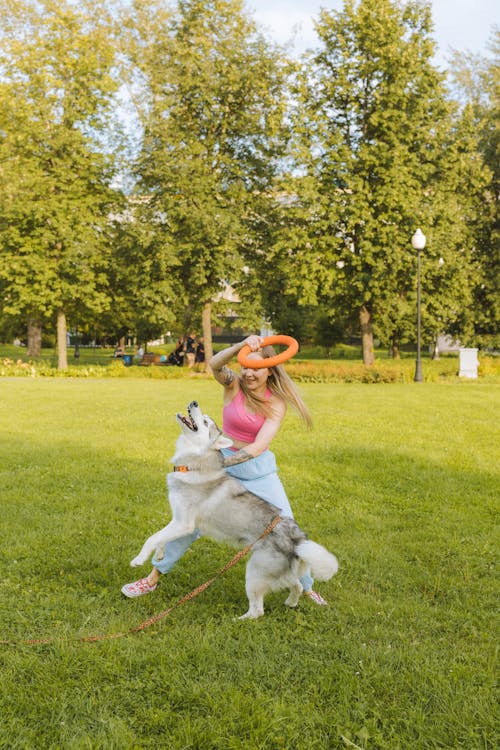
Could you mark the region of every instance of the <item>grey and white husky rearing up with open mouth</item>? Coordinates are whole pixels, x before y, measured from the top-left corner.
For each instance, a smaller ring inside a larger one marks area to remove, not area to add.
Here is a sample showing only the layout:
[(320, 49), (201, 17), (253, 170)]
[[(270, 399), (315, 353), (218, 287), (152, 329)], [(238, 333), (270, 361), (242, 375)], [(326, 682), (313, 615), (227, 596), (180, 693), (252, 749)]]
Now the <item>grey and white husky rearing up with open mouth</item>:
[[(195, 529), (215, 539), (242, 548), (255, 542), (279, 510), (248, 492), (224, 470), (221, 448), (232, 445), (215, 422), (201, 413), (196, 401), (188, 406), (188, 416), (177, 414), (181, 428), (171, 459), (174, 471), (167, 484), (172, 520), (150, 536), (130, 563), (143, 565), (153, 552), (157, 559), (165, 545)], [(281, 518), (277, 526), (252, 548), (246, 568), (248, 612), (240, 619), (264, 614), (268, 591), (287, 588), (288, 607), (295, 607), (302, 593), (299, 578), (310, 568), (320, 581), (329, 580), (338, 570), (337, 559), (324, 547), (307, 539), (291, 518)]]

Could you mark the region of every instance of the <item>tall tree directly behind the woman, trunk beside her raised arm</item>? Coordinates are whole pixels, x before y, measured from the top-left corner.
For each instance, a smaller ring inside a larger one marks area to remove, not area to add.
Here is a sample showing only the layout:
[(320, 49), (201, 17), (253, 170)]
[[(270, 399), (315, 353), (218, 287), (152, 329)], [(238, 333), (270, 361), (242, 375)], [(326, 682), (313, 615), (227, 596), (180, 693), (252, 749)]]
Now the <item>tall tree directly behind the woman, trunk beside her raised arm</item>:
[(243, 251), (283, 147), (285, 66), (242, 0), (180, 0), (176, 12), (137, 2), (129, 26), (142, 75), (144, 258), (157, 252), (172, 269), (173, 309), (203, 310), (209, 358), (221, 284), (251, 278)]

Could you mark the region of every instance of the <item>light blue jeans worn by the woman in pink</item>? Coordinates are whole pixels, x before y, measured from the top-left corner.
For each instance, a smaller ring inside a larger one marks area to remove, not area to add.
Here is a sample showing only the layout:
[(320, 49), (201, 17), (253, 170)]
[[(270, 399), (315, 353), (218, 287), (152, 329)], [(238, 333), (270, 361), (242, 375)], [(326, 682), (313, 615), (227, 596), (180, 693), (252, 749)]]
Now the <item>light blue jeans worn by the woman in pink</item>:
[[(234, 452), (229, 450), (229, 448), (222, 448), (221, 453), (223, 456), (234, 455)], [(272, 451), (264, 451), (264, 453), (261, 453), (256, 458), (252, 458), (250, 461), (229, 466), (226, 471), (241, 482), (249, 492), (253, 492), (257, 497), (279, 508), (283, 516), (293, 518), (290, 503), (277, 473), (276, 459)], [(164, 557), (161, 560), (156, 560), (153, 557), (153, 565), (160, 573), (168, 573), (200, 536), (200, 532), (195, 529), (191, 534), (186, 534), (186, 536), (181, 536), (172, 542), (168, 542), (165, 547)], [(304, 591), (312, 589), (313, 579), (309, 572), (300, 579), (300, 582)]]

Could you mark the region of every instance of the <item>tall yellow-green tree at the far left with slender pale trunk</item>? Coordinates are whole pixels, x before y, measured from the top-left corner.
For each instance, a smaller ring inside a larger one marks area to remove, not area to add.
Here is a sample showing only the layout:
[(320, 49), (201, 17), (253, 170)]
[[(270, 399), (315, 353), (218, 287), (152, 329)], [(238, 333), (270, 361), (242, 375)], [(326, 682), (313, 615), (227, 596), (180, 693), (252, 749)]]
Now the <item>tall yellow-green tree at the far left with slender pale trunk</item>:
[(109, 299), (113, 24), (98, 0), (0, 0), (0, 16), (2, 314), (57, 319), (65, 368), (67, 316)]

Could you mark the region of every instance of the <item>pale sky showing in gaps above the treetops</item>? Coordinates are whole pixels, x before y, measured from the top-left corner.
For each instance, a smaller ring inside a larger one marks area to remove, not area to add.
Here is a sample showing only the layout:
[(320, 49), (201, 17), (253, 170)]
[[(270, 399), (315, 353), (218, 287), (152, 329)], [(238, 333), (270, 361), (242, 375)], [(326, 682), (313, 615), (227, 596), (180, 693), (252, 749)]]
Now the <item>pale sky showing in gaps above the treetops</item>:
[[(303, 52), (316, 46), (312, 17), (320, 8), (340, 10), (342, 0), (246, 0), (255, 20), (280, 44), (296, 38), (294, 49)], [(492, 27), (500, 26), (499, 0), (433, 0), (436, 62), (446, 66), (451, 50), (488, 54), (486, 45)]]

